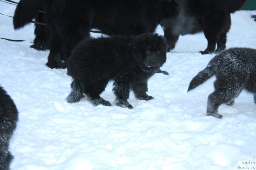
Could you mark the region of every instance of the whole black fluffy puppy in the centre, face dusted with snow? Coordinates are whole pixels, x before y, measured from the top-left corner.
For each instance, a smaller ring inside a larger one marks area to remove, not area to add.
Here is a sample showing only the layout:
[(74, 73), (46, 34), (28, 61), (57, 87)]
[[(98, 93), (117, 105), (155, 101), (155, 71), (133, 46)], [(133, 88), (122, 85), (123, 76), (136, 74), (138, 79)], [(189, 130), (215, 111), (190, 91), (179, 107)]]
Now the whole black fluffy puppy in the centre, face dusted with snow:
[(100, 97), (110, 80), (114, 80), (117, 106), (133, 108), (127, 101), (130, 90), (140, 100), (151, 100), (153, 97), (146, 94), (147, 82), (166, 62), (166, 52), (165, 39), (152, 33), (85, 38), (68, 59), (73, 82), (66, 100), (78, 102), (85, 94), (95, 106), (111, 106)]

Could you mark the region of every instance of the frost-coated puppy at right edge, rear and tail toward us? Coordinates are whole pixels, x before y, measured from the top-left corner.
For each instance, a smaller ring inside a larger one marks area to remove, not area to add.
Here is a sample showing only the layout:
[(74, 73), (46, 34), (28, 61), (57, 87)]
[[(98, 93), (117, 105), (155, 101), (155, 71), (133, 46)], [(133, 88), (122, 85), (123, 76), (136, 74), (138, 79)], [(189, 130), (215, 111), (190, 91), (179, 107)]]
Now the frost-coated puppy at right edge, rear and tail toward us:
[(207, 115), (222, 118), (218, 114), (221, 104), (234, 104), (242, 90), (254, 94), (256, 103), (256, 50), (231, 48), (216, 55), (190, 82), (188, 91), (196, 88), (212, 76), (215, 91), (208, 96)]

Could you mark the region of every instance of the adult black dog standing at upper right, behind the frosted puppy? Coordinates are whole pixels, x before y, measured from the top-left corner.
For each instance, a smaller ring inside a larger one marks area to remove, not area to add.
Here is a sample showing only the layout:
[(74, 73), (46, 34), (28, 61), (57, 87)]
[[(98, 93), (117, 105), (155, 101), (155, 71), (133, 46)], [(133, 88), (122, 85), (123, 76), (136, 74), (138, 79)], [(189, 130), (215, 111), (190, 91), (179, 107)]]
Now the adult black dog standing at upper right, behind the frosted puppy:
[[(161, 25), (168, 42), (168, 51), (174, 49), (180, 35), (204, 32), (208, 41), (202, 54), (218, 53), (226, 48), (230, 29), (230, 13), (242, 8), (246, 0), (176, 0), (181, 6), (177, 18)], [(217, 44), (217, 49), (216, 48)]]

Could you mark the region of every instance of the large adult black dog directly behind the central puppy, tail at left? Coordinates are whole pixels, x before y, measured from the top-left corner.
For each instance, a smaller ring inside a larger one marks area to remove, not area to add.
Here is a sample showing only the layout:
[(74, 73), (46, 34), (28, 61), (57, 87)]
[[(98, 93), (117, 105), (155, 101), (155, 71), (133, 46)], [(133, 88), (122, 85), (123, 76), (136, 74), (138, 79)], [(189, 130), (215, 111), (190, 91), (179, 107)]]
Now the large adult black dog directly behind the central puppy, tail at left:
[(62, 62), (92, 28), (108, 35), (140, 35), (154, 32), (164, 19), (174, 18), (180, 6), (174, 0), (20, 0), (14, 14), (14, 29), (29, 23), (40, 8), (50, 30), (48, 63)]

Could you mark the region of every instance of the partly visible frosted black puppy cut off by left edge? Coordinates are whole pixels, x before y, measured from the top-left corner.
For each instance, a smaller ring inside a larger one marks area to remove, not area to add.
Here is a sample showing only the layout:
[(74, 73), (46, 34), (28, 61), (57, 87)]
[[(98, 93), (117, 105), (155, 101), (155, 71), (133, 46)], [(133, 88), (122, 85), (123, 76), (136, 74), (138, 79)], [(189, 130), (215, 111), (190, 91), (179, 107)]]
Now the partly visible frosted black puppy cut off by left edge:
[(18, 121), (18, 110), (0, 86), (0, 170), (9, 170), (10, 162), (13, 159), (8, 150), (9, 141)]

